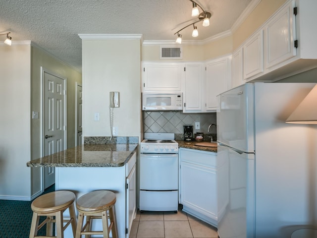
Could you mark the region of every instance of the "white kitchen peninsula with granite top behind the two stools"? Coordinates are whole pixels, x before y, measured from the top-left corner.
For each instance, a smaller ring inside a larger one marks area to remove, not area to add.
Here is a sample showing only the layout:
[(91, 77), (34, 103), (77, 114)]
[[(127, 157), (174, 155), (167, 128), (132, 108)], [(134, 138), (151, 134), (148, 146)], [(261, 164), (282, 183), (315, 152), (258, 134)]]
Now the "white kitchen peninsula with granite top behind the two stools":
[[(76, 198), (93, 190), (113, 191), (118, 237), (128, 238), (136, 214), (137, 143), (84, 144), (29, 161), (27, 166), (54, 167), (55, 190), (71, 190)], [(100, 226), (96, 221), (93, 229)], [(72, 236), (71, 229), (64, 236)]]

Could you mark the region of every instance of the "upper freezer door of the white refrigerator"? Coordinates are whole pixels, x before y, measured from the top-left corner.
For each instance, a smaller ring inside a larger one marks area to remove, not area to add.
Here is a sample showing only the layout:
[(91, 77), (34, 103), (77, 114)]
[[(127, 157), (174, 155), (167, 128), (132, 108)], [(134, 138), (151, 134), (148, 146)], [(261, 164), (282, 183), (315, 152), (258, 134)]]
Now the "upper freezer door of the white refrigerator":
[(254, 86), (244, 84), (218, 95), (217, 140), (254, 153)]

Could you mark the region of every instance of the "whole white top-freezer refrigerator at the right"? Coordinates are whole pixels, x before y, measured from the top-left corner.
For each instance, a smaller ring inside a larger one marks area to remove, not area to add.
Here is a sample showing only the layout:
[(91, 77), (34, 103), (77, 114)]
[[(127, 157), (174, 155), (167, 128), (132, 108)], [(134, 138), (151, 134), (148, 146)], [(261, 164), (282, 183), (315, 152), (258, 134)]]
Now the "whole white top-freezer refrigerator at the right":
[(314, 86), (247, 83), (217, 96), (220, 238), (316, 228), (317, 126), (285, 123)]

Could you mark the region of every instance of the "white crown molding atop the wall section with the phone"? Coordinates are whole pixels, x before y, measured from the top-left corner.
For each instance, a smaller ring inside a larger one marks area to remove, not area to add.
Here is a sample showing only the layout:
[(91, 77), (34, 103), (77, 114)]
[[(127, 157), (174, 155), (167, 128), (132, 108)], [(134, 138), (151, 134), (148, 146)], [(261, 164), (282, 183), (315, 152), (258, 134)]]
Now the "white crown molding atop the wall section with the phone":
[(142, 34), (78, 34), (82, 40), (141, 40)]

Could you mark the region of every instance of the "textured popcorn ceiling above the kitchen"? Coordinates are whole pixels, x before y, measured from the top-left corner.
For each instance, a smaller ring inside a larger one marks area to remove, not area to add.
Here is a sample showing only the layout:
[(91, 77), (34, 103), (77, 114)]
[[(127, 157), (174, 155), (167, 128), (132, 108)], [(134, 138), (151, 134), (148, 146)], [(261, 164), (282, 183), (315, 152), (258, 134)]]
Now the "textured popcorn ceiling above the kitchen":
[[(212, 14), (209, 27), (197, 23), (195, 40), (205, 40), (229, 30), (251, 0), (197, 2)], [(191, 8), (189, 0), (1, 0), (0, 33), (10, 31), (13, 44), (32, 41), (81, 69), (78, 34), (142, 34), (144, 41), (174, 41), (175, 32), (197, 19)], [(183, 41), (193, 40), (191, 32), (192, 27), (181, 32)]]

